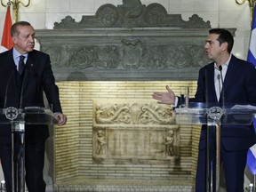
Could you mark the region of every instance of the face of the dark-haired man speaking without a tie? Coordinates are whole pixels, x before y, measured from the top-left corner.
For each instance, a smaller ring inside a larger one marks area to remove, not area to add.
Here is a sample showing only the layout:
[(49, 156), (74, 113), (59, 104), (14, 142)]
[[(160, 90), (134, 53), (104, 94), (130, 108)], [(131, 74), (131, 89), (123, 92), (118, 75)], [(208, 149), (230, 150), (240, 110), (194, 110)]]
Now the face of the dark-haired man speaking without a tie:
[(205, 40), (204, 50), (210, 60), (218, 59), (222, 52), (222, 46), (217, 40), (219, 36), (218, 34), (210, 34)]

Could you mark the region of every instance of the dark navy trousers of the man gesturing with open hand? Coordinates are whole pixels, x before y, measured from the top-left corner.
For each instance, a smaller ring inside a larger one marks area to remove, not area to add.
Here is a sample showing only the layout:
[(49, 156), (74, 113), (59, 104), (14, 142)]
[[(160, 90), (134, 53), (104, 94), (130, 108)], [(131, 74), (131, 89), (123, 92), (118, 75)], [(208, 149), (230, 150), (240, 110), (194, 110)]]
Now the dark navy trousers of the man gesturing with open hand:
[[(247, 150), (227, 151), (220, 143), (220, 162), (223, 166), (227, 192), (244, 192), (244, 169)], [(206, 148), (199, 149), (196, 170), (196, 192), (206, 190)], [(213, 163), (214, 164), (214, 163)]]

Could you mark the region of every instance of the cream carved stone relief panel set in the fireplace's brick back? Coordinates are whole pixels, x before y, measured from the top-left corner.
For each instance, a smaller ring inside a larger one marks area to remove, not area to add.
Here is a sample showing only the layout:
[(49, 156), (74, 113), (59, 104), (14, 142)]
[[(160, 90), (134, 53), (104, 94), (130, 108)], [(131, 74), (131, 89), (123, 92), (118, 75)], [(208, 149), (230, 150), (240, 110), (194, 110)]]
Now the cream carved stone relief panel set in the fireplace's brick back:
[(172, 108), (156, 103), (94, 103), (95, 163), (170, 163), (180, 158)]

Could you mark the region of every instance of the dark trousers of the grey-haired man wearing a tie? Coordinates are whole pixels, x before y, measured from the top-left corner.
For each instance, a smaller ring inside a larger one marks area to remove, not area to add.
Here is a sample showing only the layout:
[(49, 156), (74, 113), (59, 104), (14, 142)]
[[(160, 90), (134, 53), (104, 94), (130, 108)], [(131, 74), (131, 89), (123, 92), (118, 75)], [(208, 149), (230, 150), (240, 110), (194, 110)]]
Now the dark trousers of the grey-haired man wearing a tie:
[[(26, 185), (29, 192), (45, 192), (44, 148), (45, 142), (25, 144)], [(0, 157), (6, 191), (12, 192), (12, 146), (0, 145)]]

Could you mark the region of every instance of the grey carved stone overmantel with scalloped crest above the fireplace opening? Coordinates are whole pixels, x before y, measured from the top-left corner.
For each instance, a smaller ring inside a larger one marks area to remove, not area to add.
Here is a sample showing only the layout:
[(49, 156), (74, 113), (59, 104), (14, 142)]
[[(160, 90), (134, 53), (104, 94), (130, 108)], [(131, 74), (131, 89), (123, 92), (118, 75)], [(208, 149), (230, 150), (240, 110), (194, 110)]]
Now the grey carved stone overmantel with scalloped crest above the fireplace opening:
[[(209, 63), (209, 21), (167, 14), (161, 4), (103, 4), (95, 16), (67, 16), (54, 29), (36, 30), (57, 80), (196, 80)], [(230, 29), (235, 34), (235, 28)]]

